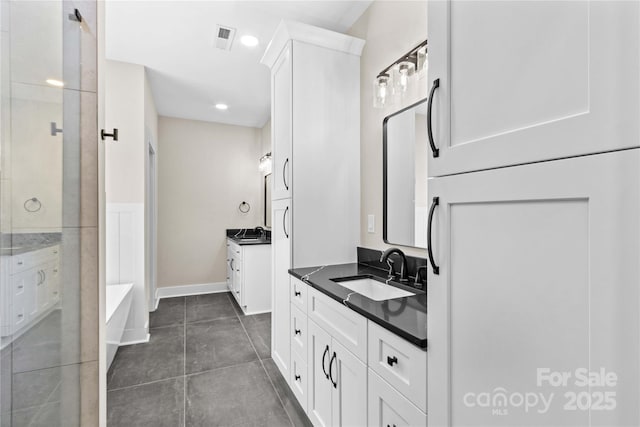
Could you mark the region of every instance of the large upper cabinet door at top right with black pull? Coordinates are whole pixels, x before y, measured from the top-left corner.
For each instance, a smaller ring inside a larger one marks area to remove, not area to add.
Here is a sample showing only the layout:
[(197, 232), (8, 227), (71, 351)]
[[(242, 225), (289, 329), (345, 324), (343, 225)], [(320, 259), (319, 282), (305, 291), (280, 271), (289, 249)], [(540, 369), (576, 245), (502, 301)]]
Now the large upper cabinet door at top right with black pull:
[(440, 83), (430, 175), (638, 146), (639, 9), (430, 2), (429, 80)]

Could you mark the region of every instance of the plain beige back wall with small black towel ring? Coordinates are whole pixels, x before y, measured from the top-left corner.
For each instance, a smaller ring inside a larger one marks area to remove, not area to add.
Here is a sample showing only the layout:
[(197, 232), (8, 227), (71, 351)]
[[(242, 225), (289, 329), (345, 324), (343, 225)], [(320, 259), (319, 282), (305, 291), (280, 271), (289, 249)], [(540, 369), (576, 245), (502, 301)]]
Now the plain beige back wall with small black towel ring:
[(261, 129), (160, 117), (158, 130), (158, 286), (225, 282), (225, 230), (262, 223)]

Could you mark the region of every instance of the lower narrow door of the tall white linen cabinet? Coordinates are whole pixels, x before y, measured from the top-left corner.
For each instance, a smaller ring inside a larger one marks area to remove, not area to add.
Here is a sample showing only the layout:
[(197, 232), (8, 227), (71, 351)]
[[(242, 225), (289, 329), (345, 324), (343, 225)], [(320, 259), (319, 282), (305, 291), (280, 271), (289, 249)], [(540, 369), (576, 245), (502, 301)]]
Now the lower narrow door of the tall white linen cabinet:
[(289, 380), (289, 361), (291, 352), (289, 268), (291, 265), (291, 242), (288, 232), (290, 218), (290, 200), (274, 201), (272, 216), (274, 222), (271, 231), (271, 250), (273, 256), (273, 311), (271, 313), (271, 354), (282, 376)]

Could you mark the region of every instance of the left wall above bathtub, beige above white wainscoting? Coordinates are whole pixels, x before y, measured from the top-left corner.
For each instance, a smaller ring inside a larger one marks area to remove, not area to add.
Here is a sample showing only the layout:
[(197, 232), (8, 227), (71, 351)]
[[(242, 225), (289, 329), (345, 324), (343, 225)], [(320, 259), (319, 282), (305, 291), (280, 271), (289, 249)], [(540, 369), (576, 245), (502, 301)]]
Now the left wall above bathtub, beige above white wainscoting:
[[(106, 61), (105, 125), (118, 141), (105, 141), (107, 284), (133, 283), (123, 342), (147, 339), (149, 323), (147, 156), (157, 140), (157, 112), (141, 65)], [(156, 149), (157, 152), (157, 149)]]

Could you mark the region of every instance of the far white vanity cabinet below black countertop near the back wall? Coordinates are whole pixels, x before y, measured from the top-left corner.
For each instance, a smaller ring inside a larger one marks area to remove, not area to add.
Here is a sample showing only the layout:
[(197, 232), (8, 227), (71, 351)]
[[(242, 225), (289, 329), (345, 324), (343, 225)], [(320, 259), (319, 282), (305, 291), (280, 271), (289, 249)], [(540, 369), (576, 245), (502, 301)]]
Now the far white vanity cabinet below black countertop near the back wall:
[(271, 311), (271, 245), (227, 239), (227, 288), (245, 314)]

